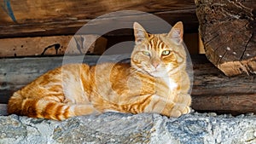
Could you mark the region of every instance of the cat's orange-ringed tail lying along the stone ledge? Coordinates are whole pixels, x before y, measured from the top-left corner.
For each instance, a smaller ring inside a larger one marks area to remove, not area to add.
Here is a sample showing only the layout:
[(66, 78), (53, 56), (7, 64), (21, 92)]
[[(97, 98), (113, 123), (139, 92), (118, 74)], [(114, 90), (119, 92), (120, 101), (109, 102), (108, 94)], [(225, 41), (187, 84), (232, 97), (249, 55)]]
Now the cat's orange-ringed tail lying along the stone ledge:
[(9, 99), (8, 113), (31, 118), (64, 120), (74, 116), (97, 112), (91, 105), (68, 105), (59, 101), (23, 98), (18, 92)]

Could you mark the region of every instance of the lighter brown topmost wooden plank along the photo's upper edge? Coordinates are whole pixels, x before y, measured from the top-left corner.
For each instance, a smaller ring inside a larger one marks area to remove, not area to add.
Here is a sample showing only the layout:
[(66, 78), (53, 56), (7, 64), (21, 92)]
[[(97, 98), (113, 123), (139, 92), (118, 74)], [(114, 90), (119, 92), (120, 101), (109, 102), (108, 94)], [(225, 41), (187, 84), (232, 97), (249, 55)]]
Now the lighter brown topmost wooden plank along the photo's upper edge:
[[(3, 0), (0, 1), (3, 3)], [(182, 9), (195, 9), (195, 3), (191, 0), (49, 0), (49, 1), (11, 1), (11, 8), (18, 24), (66, 21), (66, 20), (90, 20), (102, 14), (108, 14), (119, 10), (139, 10), (144, 12), (165, 12)], [(1, 9), (3, 11), (3, 9)], [(9, 15), (0, 13), (0, 24), (15, 24)]]

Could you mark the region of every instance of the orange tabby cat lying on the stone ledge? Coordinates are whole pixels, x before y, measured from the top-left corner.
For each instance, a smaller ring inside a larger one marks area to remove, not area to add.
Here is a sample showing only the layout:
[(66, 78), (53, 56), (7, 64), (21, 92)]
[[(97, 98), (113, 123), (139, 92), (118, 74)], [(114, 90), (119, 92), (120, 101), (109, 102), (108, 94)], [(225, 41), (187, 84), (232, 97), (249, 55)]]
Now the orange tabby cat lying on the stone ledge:
[(68, 64), (49, 71), (14, 93), (8, 112), (32, 118), (66, 118), (91, 113), (156, 112), (179, 117), (190, 112), (183, 24), (168, 34), (149, 34), (134, 23), (131, 64)]

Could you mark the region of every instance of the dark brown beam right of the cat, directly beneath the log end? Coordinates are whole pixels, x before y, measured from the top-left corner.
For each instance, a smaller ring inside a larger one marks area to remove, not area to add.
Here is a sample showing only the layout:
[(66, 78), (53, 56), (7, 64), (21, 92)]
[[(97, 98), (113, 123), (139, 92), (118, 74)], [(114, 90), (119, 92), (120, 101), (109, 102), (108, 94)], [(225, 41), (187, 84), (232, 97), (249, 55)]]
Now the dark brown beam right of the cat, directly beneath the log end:
[(194, 60), (193, 95), (256, 95), (256, 75), (229, 78), (206, 57), (200, 59), (194, 57), (192, 60)]

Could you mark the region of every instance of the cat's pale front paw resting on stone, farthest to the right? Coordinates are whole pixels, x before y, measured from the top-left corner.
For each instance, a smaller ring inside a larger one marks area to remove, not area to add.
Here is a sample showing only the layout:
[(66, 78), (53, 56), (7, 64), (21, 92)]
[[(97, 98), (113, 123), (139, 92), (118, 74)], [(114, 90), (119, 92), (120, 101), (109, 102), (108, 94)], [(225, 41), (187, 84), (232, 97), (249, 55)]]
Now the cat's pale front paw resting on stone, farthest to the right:
[(183, 105), (183, 104), (176, 104), (172, 109), (170, 117), (176, 117), (177, 118), (177, 117), (180, 117), (183, 114), (189, 113), (190, 111), (191, 111), (190, 107), (188, 107), (186, 105)]

